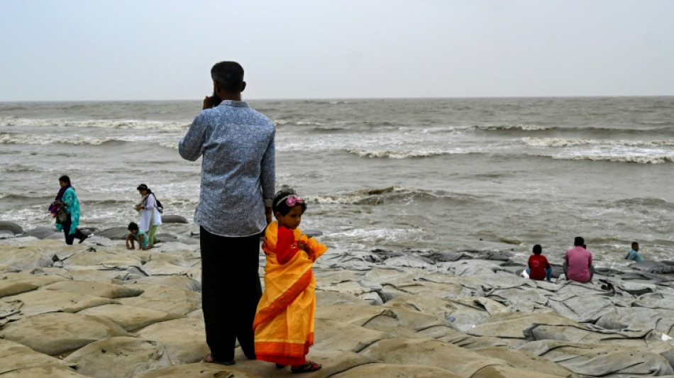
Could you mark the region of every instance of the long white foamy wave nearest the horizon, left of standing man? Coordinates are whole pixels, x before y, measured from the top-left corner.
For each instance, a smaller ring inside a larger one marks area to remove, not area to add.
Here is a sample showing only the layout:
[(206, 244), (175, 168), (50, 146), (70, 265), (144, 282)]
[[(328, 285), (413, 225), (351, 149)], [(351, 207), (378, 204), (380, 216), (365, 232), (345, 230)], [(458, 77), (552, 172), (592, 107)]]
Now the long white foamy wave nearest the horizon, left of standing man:
[(162, 122), (162, 121), (137, 121), (137, 120), (70, 120), (62, 118), (13, 118), (0, 117), (0, 126), (40, 127), (40, 126), (68, 126), (82, 128), (116, 128), (128, 130), (186, 130), (190, 123)]

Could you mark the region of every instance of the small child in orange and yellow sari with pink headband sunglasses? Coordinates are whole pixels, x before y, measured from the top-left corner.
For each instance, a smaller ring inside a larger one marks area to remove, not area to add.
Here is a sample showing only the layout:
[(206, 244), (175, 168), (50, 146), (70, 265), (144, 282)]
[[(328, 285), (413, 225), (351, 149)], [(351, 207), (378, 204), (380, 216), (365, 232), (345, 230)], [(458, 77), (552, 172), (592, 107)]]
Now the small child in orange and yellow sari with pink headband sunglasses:
[(304, 200), (292, 189), (279, 191), (272, 204), (277, 221), (267, 226), (265, 291), (255, 314), (255, 355), (294, 373), (315, 372), (322, 365), (306, 360), (314, 345), (316, 279), (311, 267), (328, 248), (299, 230)]

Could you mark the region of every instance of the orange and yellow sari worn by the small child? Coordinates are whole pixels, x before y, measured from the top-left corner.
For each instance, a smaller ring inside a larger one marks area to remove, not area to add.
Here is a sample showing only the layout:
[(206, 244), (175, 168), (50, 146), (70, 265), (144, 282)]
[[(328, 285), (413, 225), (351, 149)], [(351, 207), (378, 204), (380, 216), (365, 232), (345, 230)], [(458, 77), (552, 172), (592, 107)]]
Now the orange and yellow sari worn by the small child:
[(267, 266), (265, 292), (253, 321), (255, 355), (258, 360), (301, 365), (314, 345), (316, 279), (311, 267), (328, 248), (302, 235), (298, 228), (292, 230), (295, 243), (304, 240), (311, 251), (299, 250), (288, 262), (280, 264), (276, 257), (278, 228), (276, 221), (267, 226), (262, 246)]

